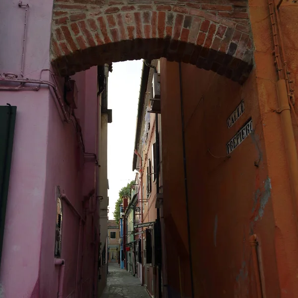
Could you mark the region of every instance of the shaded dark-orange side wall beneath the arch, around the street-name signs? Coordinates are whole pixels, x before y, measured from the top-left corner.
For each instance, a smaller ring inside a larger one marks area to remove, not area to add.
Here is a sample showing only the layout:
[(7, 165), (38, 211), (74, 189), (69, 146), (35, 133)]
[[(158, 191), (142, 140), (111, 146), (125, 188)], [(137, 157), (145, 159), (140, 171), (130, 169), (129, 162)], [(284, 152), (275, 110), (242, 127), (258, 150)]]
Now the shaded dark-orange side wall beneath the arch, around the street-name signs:
[[(190, 296), (178, 64), (162, 61), (161, 75), (168, 285), (180, 292), (179, 257), (182, 289)], [(256, 297), (252, 233), (258, 234), (266, 251), (262, 259), (270, 285), (266, 293), (278, 297), (271, 179), (254, 75), (240, 86), (213, 72), (182, 65), (182, 81), (195, 297)], [(226, 119), (242, 99), (245, 112), (228, 129)], [(226, 155), (226, 143), (249, 117), (255, 132), (230, 158), (218, 158)]]

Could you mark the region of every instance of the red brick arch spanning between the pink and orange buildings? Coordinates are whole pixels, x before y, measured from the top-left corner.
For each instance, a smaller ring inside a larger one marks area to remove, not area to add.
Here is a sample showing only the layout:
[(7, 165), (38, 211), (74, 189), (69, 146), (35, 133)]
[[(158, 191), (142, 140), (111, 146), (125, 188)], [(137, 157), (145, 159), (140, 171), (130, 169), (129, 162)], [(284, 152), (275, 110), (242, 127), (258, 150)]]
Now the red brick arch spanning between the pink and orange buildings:
[(125, 60), (182, 61), (243, 82), (253, 64), (247, 0), (56, 0), (60, 75)]

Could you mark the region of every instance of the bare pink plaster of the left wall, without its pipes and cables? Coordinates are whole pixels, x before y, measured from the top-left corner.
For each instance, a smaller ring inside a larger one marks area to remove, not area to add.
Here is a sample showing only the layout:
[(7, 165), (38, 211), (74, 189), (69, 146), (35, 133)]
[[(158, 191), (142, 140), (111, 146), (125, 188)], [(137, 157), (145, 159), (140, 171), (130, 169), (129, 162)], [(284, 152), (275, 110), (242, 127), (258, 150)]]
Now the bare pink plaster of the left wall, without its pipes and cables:
[[(26, 3), (29, 9), (24, 74), (39, 79), (41, 70), (50, 68), (53, 2), (28, 0), (24, 1)], [(25, 9), (18, 7), (17, 0), (0, 1), (0, 73), (20, 74), (24, 17)], [(42, 78), (50, 79), (49, 72), (44, 72)], [(95, 153), (96, 68), (76, 74), (74, 78), (79, 90), (79, 108), (75, 113), (80, 118), (86, 150)], [(57, 295), (59, 278), (59, 270), (54, 265), (55, 187), (59, 185), (83, 214), (82, 196), (95, 187), (94, 160), (83, 163), (74, 125), (62, 121), (47, 87), (37, 92), (0, 90), (0, 105), (6, 103), (17, 106), (17, 116), (0, 267), (0, 297), (52, 298)], [(83, 184), (83, 181), (87, 182)], [(94, 197), (90, 206), (95, 207)], [(91, 297), (97, 249), (92, 242), (98, 221), (96, 217), (92, 220), (93, 216), (87, 216), (84, 228), (84, 268), (79, 276), (84, 297), (88, 298)], [(66, 260), (65, 297), (74, 290), (78, 227), (78, 218), (64, 204), (61, 257)], [(81, 260), (79, 272), (80, 269)]]

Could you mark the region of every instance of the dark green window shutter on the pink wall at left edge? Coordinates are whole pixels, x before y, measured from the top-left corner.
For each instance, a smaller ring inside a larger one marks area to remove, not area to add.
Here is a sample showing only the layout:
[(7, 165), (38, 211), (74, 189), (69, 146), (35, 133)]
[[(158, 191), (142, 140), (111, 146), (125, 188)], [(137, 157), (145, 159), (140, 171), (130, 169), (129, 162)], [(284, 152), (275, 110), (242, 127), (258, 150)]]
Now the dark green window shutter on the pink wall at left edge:
[(15, 106), (0, 106), (0, 261), (16, 116)]

